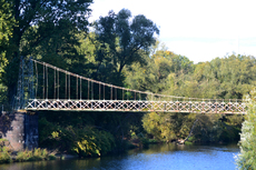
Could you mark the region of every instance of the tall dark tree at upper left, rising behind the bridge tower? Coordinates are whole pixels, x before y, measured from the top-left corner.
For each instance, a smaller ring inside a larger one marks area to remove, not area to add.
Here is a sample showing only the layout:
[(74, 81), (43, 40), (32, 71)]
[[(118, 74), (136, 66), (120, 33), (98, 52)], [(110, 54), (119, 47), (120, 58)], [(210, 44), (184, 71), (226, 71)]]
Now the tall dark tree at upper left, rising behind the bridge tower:
[[(20, 56), (43, 58), (43, 61), (62, 61), (60, 64), (75, 60), (75, 46), (78, 44), (75, 34), (88, 31), (88, 17), (91, 11), (89, 6), (92, 1), (28, 1), (26, 6), (23, 1), (7, 2), (12, 4), (8, 14), (17, 22), (9, 29), (12, 37), (8, 41), (9, 48), (4, 49), (7, 66), (1, 80), (8, 87), (11, 102), (16, 92)], [(4, 4), (7, 2), (3, 1)]]

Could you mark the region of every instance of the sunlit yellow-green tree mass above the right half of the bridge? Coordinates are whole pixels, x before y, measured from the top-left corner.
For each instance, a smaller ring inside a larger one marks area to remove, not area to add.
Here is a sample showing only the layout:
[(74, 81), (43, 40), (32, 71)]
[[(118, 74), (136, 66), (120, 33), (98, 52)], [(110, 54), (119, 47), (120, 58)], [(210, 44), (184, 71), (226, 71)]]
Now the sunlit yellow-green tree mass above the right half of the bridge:
[(135, 62), (125, 69), (125, 81), (131, 89), (188, 98), (243, 99), (256, 84), (256, 59), (252, 56), (232, 54), (194, 64), (158, 42), (144, 59), (147, 64)]

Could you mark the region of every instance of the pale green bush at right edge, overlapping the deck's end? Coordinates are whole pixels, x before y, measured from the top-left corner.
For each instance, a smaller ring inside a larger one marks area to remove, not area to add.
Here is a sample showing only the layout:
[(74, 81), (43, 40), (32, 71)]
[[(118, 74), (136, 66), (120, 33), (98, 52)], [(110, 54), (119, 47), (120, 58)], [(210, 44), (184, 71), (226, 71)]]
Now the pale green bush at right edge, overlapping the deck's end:
[(256, 169), (256, 91), (247, 97), (248, 111), (243, 122), (240, 133), (240, 154), (236, 159), (238, 169)]

